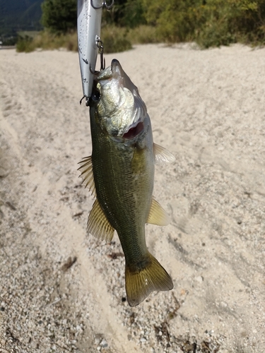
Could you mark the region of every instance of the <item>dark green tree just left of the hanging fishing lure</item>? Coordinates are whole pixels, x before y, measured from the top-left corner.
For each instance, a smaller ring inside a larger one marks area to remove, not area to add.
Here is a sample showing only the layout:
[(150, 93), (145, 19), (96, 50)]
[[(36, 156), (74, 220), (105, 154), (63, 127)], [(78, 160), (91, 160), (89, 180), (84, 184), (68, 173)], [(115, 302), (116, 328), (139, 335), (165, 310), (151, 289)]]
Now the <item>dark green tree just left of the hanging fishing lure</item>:
[(45, 0), (42, 3), (41, 22), (54, 33), (76, 29), (76, 0)]

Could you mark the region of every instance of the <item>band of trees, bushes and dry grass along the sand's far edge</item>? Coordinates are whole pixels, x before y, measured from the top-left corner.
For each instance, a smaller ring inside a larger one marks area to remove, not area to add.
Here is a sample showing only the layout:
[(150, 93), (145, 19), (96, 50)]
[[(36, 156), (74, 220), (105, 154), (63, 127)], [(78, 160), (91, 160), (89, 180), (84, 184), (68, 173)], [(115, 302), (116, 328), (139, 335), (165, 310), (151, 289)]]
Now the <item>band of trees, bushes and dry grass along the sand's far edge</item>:
[[(42, 11), (45, 31), (33, 40), (20, 39), (18, 50), (77, 50), (76, 0), (45, 0)], [(111, 11), (103, 11), (102, 41), (105, 52), (150, 42), (263, 45), (265, 0), (115, 0)]]

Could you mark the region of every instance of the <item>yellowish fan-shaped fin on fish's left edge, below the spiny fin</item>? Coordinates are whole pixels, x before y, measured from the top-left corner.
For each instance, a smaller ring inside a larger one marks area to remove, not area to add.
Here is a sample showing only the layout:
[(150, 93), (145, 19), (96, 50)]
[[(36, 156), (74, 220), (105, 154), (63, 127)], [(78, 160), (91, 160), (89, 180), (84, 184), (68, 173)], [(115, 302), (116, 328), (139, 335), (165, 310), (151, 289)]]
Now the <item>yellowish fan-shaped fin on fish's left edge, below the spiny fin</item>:
[(93, 203), (88, 216), (88, 232), (98, 239), (107, 241), (107, 243), (112, 241), (114, 235), (114, 228), (107, 220), (98, 199)]

